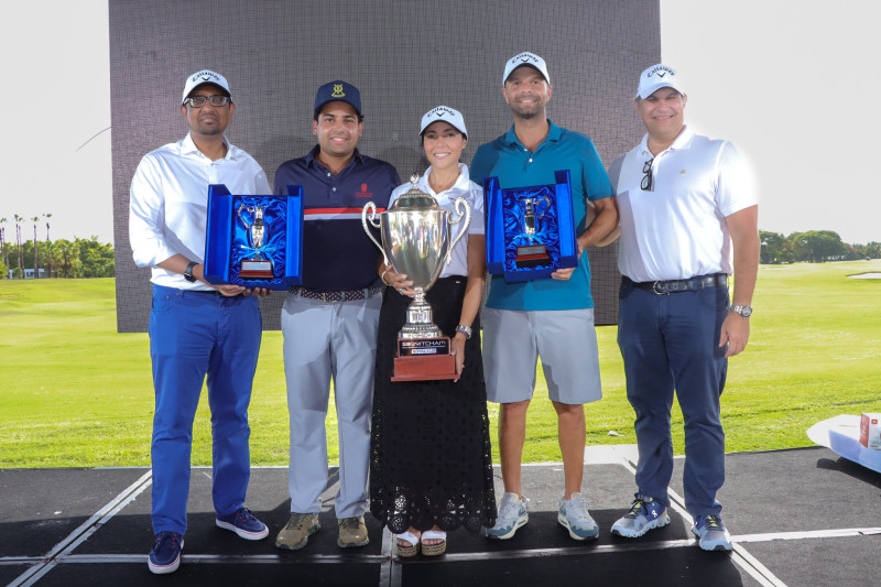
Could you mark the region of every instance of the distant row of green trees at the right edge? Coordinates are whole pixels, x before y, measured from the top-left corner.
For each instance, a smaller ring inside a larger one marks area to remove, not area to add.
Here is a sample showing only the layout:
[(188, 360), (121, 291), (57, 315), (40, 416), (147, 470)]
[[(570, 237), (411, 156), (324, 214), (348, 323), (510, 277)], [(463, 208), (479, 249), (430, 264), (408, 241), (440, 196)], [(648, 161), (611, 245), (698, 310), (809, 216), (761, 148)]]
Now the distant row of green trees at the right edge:
[(831, 230), (808, 230), (793, 232), (784, 237), (780, 232), (759, 231), (762, 243), (762, 263), (825, 263), (829, 261), (851, 261), (856, 259), (881, 259), (881, 242), (848, 244), (841, 241), (838, 232)]

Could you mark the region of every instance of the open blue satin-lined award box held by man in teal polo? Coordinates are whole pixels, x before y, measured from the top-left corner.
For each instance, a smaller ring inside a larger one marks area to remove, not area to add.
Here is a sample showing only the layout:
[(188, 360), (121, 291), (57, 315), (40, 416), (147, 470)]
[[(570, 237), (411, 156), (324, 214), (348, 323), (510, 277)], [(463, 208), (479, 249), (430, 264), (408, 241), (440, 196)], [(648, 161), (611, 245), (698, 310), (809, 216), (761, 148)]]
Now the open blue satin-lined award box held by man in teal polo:
[(498, 177), (483, 178), (491, 274), (529, 281), (578, 264), (568, 170), (554, 172), (554, 181), (502, 189)]

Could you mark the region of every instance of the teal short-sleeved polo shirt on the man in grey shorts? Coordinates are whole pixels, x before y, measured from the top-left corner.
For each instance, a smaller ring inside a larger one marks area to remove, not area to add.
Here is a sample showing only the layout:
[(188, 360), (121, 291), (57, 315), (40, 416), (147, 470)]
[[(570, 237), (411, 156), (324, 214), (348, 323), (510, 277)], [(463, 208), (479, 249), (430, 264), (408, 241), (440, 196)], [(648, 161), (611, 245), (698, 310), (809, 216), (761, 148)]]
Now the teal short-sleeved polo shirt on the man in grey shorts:
[[(531, 153), (518, 140), (514, 127), (492, 142), (481, 144), (469, 167), (471, 181), (483, 185), (485, 177), (498, 177), (502, 189), (555, 183), (554, 172), (569, 170), (575, 233), (585, 230), (586, 199), (612, 196), (606, 167), (594, 141), (579, 132), (557, 127)], [(541, 279), (508, 283), (493, 275), (487, 307), (499, 309), (579, 309), (594, 307), (590, 295), (590, 265), (581, 254), (568, 281)]]

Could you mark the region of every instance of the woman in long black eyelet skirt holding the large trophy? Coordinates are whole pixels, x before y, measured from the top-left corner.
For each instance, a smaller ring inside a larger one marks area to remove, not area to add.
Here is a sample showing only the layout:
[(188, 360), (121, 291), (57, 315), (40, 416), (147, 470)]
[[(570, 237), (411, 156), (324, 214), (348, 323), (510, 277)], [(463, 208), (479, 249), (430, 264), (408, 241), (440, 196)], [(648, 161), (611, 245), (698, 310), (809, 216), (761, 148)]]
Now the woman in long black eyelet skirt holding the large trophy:
[[(426, 556), (443, 554), (448, 531), (465, 526), (478, 532), (496, 521), (478, 317), (486, 283), (483, 191), (469, 181), (468, 167), (459, 162), (467, 143), (461, 113), (445, 106), (429, 110), (422, 118), (420, 137), (431, 166), (412, 184), (395, 188), (385, 214), (404, 208), (405, 200), (427, 200), (432, 209), (445, 210), (446, 221), (436, 222), (439, 228), (412, 224), (387, 236), (389, 225), (400, 222), (384, 220), (388, 264), (379, 272), (387, 289), (371, 426), (370, 511), (396, 534), (402, 557), (420, 551)], [(401, 206), (394, 205), (398, 199)], [(447, 222), (461, 222), (456, 232), (467, 238), (452, 240)], [(433, 267), (422, 271), (404, 258), (424, 259)], [(411, 302), (427, 308), (423, 318)], [(414, 323), (433, 327), (432, 320), (440, 337), (448, 337), (455, 377), (402, 378), (401, 369), (394, 377), (407, 328)]]

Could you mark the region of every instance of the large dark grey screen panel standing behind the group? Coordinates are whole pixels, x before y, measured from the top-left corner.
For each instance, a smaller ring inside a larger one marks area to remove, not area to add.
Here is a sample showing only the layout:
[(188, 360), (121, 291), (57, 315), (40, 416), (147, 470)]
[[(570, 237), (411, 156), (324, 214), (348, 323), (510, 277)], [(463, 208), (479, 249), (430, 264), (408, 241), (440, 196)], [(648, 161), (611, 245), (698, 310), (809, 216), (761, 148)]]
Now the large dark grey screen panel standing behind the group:
[[(594, 139), (608, 166), (642, 137), (632, 110), (639, 73), (660, 61), (657, 0), (270, 1), (110, 0), (110, 81), (117, 315), (122, 333), (144, 331), (150, 271), (134, 267), (129, 185), (140, 159), (183, 138), (187, 75), (224, 75), (236, 99), (229, 140), (272, 183), (278, 166), (315, 144), (312, 109), (322, 84), (361, 90), (359, 149), (402, 178), (425, 170), (422, 115), (446, 105), (468, 124), (466, 163), (505, 132), (504, 62), (531, 51), (547, 62), (548, 117)], [(308, 244), (306, 244), (308, 246)], [(617, 320), (617, 244), (590, 250), (596, 322)], [(264, 328), (280, 327), (284, 294), (261, 301)]]

